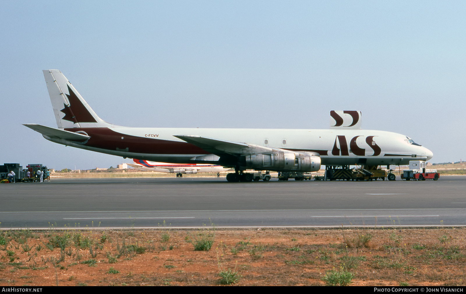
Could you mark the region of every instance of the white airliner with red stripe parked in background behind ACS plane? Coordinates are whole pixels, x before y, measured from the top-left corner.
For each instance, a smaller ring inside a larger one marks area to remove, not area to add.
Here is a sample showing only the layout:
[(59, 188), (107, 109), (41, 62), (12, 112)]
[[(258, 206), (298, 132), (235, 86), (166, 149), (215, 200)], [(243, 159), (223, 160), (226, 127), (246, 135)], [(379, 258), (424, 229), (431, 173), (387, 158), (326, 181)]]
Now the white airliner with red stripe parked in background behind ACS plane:
[(130, 167), (134, 167), (144, 171), (176, 174), (177, 177), (182, 177), (183, 174), (199, 174), (199, 173), (220, 173), (230, 171), (231, 168), (225, 168), (213, 164), (200, 163), (166, 163), (153, 162), (148, 160), (135, 159), (134, 163), (128, 163)]

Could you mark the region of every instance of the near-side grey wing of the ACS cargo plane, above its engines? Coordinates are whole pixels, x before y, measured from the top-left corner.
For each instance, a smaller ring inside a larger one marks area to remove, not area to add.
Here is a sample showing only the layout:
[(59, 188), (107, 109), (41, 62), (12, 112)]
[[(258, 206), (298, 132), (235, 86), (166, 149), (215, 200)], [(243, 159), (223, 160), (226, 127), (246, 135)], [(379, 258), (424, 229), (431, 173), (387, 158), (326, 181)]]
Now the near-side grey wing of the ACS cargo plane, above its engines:
[[(242, 142), (232, 142), (227, 140), (219, 140), (201, 136), (193, 135), (175, 135), (181, 140), (184, 140), (192, 145), (200, 147), (207, 152), (222, 156), (222, 155), (246, 155), (246, 154), (257, 154), (262, 152), (268, 152), (278, 150), (278, 148), (269, 148), (264, 146), (258, 146), (254, 144), (247, 144)], [(281, 150), (281, 149), (280, 149)]]

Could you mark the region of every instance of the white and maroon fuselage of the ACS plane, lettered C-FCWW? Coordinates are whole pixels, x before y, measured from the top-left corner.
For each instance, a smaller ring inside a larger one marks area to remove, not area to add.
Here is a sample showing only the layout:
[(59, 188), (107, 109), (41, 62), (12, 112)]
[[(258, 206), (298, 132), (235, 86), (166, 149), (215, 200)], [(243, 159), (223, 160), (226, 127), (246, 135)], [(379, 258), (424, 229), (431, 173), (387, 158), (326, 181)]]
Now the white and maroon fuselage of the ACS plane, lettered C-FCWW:
[(127, 158), (171, 163), (199, 162), (206, 151), (173, 135), (190, 134), (228, 141), (247, 142), (320, 155), (322, 165), (389, 165), (429, 160), (432, 152), (407, 142), (402, 134), (377, 130), (341, 129), (230, 129), (230, 128), (65, 128), (90, 136), (83, 142), (57, 138), (48, 140), (91, 151)]

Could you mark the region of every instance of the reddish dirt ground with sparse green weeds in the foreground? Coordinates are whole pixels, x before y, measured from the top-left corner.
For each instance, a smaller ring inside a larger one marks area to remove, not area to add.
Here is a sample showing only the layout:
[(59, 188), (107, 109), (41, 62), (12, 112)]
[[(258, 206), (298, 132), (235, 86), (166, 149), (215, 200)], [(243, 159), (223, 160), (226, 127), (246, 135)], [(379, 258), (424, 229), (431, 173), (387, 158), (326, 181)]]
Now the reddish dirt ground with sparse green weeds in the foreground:
[[(0, 285), (214, 286), (228, 269), (235, 285), (323, 286), (332, 269), (356, 286), (464, 285), (465, 236), (465, 228), (8, 230)], [(212, 248), (194, 251), (202, 238)]]

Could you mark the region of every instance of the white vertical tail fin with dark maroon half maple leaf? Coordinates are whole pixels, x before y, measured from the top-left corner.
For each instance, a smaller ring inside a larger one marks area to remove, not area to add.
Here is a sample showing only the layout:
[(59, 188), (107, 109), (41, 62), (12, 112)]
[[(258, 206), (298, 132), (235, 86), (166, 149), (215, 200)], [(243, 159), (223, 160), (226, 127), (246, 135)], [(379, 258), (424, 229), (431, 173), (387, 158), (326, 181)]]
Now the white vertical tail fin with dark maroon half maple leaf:
[(109, 127), (58, 69), (43, 70), (48, 94), (59, 128)]

